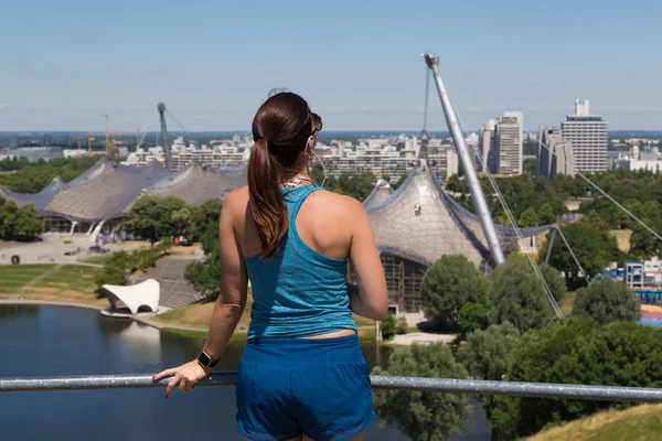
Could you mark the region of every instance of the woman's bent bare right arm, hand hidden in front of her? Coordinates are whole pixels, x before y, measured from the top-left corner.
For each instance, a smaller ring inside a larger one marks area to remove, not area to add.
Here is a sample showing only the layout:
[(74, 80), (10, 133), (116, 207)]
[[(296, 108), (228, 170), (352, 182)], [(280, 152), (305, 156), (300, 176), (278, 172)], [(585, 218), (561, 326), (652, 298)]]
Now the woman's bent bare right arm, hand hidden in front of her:
[(350, 262), (356, 277), (356, 284), (348, 283), (352, 312), (381, 321), (388, 312), (388, 291), (384, 267), (377, 251), (377, 244), (363, 205), (351, 202), (352, 243)]

